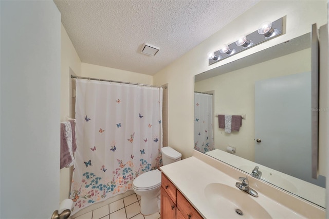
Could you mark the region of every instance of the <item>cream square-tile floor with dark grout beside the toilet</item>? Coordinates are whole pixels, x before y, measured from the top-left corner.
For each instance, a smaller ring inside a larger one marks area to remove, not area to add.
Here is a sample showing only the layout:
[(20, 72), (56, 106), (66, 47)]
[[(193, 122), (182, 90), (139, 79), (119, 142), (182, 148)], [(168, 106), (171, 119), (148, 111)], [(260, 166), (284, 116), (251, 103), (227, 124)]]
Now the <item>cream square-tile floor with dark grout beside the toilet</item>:
[(105, 205), (74, 219), (158, 219), (160, 212), (149, 216), (143, 216), (140, 211), (140, 196), (135, 193), (121, 198), (116, 202)]

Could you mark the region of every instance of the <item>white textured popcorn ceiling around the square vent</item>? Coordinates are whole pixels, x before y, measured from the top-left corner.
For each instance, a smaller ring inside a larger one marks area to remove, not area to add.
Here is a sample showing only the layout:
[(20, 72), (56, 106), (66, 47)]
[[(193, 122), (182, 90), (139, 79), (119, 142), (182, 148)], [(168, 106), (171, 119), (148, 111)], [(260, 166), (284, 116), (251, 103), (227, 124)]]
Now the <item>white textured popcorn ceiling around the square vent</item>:
[[(54, 0), (82, 62), (154, 75), (259, 0)], [(144, 43), (160, 48), (150, 57)]]

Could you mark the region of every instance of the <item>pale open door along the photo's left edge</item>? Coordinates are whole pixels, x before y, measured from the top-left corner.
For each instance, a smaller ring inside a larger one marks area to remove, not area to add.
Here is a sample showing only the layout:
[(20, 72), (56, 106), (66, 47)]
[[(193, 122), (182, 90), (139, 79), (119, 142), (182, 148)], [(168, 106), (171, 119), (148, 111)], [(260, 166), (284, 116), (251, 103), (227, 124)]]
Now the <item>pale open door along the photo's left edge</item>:
[(61, 14), (1, 1), (1, 218), (59, 207)]

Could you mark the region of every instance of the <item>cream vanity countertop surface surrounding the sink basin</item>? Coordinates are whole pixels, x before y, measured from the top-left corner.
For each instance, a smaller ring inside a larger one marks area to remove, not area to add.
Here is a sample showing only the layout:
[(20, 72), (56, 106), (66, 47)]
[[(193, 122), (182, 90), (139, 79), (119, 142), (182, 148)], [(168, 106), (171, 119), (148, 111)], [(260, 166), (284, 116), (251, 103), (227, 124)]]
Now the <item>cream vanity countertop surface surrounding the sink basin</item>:
[[(236, 188), (235, 182), (239, 181), (239, 179), (235, 179), (220, 170), (217, 170), (196, 157), (189, 157), (163, 166), (160, 169), (173, 182), (177, 189), (184, 194), (198, 212), (203, 217), (209, 219), (220, 218), (220, 215), (214, 210), (205, 196), (204, 191), (206, 186), (210, 183), (217, 182)], [(246, 175), (241, 174), (241, 177), (245, 176)], [(236, 189), (239, 190), (238, 188)], [(257, 191), (256, 188), (253, 189)], [(258, 193), (259, 197), (252, 197), (250, 195), (251, 198), (261, 204), (272, 218), (305, 218), (301, 214), (273, 201), (259, 191)]]

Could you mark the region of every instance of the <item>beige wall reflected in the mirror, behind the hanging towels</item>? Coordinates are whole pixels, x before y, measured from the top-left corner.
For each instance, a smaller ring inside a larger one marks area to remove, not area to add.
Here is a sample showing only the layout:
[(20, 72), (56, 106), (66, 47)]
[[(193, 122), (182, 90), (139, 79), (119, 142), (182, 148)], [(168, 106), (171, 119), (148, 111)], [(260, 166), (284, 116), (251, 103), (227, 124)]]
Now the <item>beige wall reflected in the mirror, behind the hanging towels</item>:
[(218, 118), (215, 117), (215, 148), (226, 151), (226, 147), (230, 145), (236, 148), (235, 155), (254, 161), (255, 81), (306, 71), (310, 71), (310, 49), (196, 82), (194, 89), (197, 92), (214, 90), (215, 115), (246, 115), (240, 131), (231, 134), (218, 129)]

